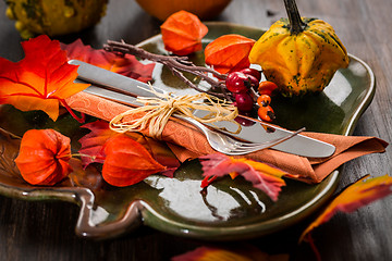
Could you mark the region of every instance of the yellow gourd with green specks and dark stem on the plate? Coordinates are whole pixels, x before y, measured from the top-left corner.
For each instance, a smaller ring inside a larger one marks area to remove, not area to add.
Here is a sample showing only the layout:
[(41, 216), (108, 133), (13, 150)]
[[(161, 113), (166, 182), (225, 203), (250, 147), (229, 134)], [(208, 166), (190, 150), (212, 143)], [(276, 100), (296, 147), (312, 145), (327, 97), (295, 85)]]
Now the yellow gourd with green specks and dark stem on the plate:
[(347, 51), (331, 25), (301, 17), (294, 0), (284, 2), (289, 20), (279, 20), (260, 37), (249, 61), (283, 96), (320, 92), (336, 70), (347, 67)]

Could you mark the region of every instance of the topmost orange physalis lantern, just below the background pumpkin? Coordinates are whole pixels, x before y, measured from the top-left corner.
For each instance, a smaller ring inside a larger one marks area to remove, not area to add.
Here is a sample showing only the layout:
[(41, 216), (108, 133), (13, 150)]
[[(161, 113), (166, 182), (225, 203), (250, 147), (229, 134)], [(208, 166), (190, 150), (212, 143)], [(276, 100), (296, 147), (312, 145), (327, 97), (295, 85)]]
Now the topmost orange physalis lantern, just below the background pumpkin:
[(201, 39), (208, 33), (207, 26), (186, 11), (170, 15), (160, 28), (164, 48), (177, 55), (201, 50)]

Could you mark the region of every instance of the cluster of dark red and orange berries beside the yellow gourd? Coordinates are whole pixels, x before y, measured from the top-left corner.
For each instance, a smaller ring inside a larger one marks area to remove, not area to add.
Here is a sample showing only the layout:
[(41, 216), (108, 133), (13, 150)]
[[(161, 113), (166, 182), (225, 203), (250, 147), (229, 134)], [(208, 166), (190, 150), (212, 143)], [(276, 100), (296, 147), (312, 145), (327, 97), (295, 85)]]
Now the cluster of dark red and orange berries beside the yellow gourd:
[(243, 69), (230, 73), (225, 79), (226, 88), (233, 94), (235, 105), (241, 113), (254, 109), (255, 101), (259, 105), (258, 115), (262, 121), (271, 122), (274, 113), (271, 103), (271, 94), (278, 86), (268, 80), (261, 80), (261, 72), (256, 69)]

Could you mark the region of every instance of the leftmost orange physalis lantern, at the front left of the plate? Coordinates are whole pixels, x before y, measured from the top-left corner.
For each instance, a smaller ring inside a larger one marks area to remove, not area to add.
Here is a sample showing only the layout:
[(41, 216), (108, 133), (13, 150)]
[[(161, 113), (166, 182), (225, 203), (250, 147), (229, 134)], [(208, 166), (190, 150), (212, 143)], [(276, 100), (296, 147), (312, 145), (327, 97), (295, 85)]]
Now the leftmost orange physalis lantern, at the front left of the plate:
[(22, 138), (15, 159), (23, 179), (32, 185), (54, 185), (72, 171), (71, 140), (53, 129), (30, 129)]

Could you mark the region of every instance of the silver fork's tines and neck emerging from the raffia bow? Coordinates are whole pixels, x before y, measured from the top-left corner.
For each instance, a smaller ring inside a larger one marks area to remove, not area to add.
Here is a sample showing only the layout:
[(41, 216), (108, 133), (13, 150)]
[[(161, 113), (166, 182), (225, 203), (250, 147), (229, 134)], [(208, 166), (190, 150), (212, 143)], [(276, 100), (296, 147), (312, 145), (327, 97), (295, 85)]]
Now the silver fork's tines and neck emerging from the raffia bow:
[(241, 141), (238, 139), (230, 137), (226, 134), (220, 133), (219, 130), (210, 129), (203, 123), (200, 123), (192, 117), (182, 116), (179, 114), (173, 114), (173, 116), (184, 120), (184, 121), (195, 125), (196, 127), (198, 127), (205, 134), (205, 136), (212, 149), (215, 149), (221, 153), (230, 154), (230, 156), (246, 154), (246, 153), (250, 153), (254, 151), (268, 149), (268, 148), (273, 147), (280, 142), (283, 142), (283, 141), (294, 137), (298, 133), (305, 130), (305, 128), (301, 128), (287, 136), (268, 140), (268, 141), (260, 142), (260, 144), (255, 144), (255, 142)]

